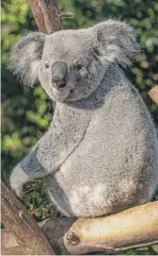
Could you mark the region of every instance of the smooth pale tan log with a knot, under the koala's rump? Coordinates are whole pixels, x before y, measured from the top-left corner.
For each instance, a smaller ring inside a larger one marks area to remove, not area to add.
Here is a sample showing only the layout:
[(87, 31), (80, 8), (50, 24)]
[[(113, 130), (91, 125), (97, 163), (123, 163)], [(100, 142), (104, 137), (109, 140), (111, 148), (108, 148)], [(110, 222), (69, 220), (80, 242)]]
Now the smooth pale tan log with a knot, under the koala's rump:
[(64, 238), (71, 254), (117, 253), (158, 243), (158, 201), (103, 218), (78, 219)]

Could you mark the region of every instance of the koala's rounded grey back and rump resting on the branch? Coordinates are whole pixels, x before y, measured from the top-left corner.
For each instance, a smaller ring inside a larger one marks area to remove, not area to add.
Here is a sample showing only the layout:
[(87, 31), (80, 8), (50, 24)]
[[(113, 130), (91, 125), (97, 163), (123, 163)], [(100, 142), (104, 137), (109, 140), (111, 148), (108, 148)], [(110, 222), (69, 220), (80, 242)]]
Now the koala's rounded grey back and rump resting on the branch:
[(84, 140), (47, 188), (62, 213), (87, 217), (148, 202), (157, 181), (150, 113), (133, 87), (121, 83), (92, 112)]

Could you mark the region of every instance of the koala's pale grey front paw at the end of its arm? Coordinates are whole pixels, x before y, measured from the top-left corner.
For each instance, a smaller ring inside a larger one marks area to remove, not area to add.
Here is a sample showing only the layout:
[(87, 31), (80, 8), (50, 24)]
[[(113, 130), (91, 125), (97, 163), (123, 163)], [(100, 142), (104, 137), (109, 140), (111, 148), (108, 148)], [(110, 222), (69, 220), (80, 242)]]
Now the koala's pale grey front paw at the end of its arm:
[(23, 185), (25, 180), (24, 172), (21, 171), (19, 166), (15, 167), (10, 176), (11, 189), (15, 191), (17, 196), (23, 196)]

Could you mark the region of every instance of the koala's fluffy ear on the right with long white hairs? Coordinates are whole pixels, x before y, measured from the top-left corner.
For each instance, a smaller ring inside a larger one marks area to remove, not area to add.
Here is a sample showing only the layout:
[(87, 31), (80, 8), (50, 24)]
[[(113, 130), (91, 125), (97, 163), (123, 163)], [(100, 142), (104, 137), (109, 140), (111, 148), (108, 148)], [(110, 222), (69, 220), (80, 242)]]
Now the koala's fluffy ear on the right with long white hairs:
[(93, 26), (96, 47), (103, 60), (130, 66), (139, 52), (134, 28), (126, 23), (107, 20)]

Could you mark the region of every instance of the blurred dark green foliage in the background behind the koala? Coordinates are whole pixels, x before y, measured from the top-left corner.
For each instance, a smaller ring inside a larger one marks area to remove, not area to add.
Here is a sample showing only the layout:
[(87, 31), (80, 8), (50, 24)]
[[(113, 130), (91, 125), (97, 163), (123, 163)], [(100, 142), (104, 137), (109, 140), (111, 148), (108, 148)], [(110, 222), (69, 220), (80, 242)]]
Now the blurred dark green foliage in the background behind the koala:
[[(107, 18), (127, 20), (134, 26), (141, 53), (128, 77), (142, 94), (155, 125), (158, 107), (147, 92), (158, 83), (158, 2), (150, 0), (58, 0), (61, 12), (71, 11), (73, 19), (63, 19), (65, 28), (92, 26)], [(2, 0), (2, 179), (8, 184), (13, 166), (22, 160), (40, 139), (50, 122), (52, 102), (40, 86), (22, 87), (7, 70), (10, 47), (25, 31), (37, 30), (26, 0)], [(9, 184), (8, 184), (9, 185)], [(56, 215), (44, 194), (43, 183), (26, 186), (24, 203), (37, 218)], [(144, 247), (128, 254), (158, 255), (158, 246)]]

